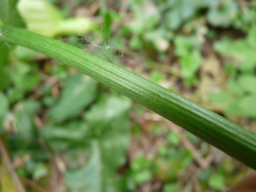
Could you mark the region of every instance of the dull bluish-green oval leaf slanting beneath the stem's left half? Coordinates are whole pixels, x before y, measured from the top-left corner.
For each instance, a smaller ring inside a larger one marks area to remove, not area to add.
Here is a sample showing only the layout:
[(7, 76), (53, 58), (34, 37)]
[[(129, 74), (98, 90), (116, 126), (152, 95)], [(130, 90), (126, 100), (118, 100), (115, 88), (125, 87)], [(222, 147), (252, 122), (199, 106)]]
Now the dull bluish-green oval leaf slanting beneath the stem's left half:
[(49, 109), (49, 118), (63, 122), (77, 117), (88, 106), (96, 95), (96, 81), (76, 73), (71, 75), (61, 91), (59, 102)]

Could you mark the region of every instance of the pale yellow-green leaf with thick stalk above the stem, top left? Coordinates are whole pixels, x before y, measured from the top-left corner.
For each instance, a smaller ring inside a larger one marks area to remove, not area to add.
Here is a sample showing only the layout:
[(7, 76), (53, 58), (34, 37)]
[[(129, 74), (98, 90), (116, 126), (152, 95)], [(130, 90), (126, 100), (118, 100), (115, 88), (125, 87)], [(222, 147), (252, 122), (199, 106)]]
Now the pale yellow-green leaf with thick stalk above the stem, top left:
[(95, 28), (88, 18), (64, 20), (57, 7), (44, 0), (20, 0), (18, 11), (28, 30), (44, 36), (86, 34)]

